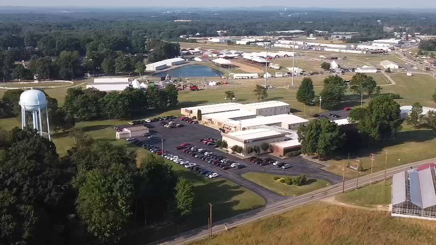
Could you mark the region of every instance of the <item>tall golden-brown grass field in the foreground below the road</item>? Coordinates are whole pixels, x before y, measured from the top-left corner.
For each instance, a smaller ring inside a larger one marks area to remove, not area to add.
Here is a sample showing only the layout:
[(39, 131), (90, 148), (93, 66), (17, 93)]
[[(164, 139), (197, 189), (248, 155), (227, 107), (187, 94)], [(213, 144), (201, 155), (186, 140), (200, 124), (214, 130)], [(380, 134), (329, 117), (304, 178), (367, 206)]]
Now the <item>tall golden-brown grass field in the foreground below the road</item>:
[(231, 228), (191, 245), (427, 245), (434, 244), (435, 237), (434, 221), (392, 218), (386, 211), (317, 203)]

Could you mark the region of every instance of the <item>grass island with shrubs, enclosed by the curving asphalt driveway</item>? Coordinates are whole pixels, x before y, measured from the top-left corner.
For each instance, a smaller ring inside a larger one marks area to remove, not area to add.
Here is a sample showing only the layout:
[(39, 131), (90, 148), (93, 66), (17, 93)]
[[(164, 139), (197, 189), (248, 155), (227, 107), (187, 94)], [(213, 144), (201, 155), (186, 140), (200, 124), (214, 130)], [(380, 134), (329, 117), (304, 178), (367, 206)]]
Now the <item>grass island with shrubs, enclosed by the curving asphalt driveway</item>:
[(242, 177), (244, 177), (245, 179), (250, 180), (276, 193), (282, 192), (285, 196), (298, 196), (323, 187), (327, 187), (329, 184), (325, 180), (308, 178), (306, 183), (301, 186), (286, 185), (274, 181), (273, 177), (275, 176), (280, 178), (290, 177), (289, 175), (261, 174), (252, 172), (242, 174)]

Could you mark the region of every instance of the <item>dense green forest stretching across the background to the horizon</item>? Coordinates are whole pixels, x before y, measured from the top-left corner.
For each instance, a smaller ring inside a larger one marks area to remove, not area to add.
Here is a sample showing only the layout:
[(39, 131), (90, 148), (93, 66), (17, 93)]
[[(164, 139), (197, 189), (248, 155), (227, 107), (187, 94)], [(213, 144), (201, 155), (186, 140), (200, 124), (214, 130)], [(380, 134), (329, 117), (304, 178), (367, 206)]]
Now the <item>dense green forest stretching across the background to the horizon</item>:
[[(0, 79), (75, 79), (85, 72), (143, 71), (143, 61), (178, 55), (181, 35), (259, 35), (299, 29), (353, 31), (351, 41), (391, 37), (393, 31), (436, 34), (436, 17), (393, 10), (211, 10), (81, 9), (0, 7)], [(174, 22), (174, 20), (192, 20)], [(381, 23), (378, 23), (380, 20)], [(164, 41), (160, 41), (164, 40)], [(86, 58), (85, 58), (86, 57)], [(29, 69), (14, 61), (31, 61)]]

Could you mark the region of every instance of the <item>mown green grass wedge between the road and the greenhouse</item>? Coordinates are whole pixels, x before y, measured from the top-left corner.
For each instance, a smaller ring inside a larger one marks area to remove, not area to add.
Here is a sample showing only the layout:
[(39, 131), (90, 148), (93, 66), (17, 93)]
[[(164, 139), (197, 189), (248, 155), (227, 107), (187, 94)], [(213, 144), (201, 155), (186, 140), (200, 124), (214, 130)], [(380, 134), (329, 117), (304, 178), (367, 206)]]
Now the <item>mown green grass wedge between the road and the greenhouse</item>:
[(361, 187), (358, 190), (348, 191), (345, 194), (338, 194), (334, 198), (337, 201), (358, 205), (362, 207), (371, 207), (371, 205), (387, 205), (391, 203), (392, 179), (376, 184)]

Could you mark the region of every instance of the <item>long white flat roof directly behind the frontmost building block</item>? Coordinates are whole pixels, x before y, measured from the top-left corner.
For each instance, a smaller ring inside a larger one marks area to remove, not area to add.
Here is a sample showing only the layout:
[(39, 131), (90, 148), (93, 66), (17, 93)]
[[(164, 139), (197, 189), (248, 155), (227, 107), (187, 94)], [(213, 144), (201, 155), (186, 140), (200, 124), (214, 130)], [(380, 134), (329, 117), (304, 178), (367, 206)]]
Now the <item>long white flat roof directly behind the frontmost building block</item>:
[(241, 125), (241, 127), (246, 128), (250, 126), (267, 125), (267, 124), (278, 123), (278, 122), (295, 124), (295, 123), (309, 122), (309, 120), (292, 114), (279, 114), (274, 116), (259, 116), (256, 118), (243, 119), (238, 121), (229, 120), (229, 121), (225, 121), (224, 123), (232, 124), (234, 126)]

